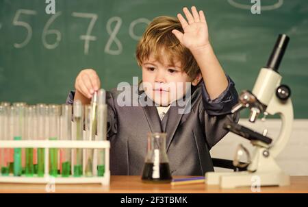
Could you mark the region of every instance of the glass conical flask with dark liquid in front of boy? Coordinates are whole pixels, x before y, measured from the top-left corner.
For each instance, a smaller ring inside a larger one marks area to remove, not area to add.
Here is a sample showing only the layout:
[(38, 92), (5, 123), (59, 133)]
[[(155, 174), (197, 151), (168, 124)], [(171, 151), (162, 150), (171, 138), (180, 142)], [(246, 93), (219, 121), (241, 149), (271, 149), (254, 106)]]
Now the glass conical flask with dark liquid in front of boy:
[(148, 152), (142, 171), (143, 182), (171, 182), (168, 156), (166, 153), (166, 133), (149, 133)]

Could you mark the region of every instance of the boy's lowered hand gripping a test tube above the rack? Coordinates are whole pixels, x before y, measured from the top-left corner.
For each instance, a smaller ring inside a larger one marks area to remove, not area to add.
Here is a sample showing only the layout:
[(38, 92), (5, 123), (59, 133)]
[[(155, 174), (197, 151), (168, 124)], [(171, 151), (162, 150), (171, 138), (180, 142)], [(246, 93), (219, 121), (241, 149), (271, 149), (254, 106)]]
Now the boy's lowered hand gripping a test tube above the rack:
[(76, 77), (75, 89), (88, 99), (92, 98), (95, 91), (101, 88), (99, 75), (93, 69), (84, 69)]

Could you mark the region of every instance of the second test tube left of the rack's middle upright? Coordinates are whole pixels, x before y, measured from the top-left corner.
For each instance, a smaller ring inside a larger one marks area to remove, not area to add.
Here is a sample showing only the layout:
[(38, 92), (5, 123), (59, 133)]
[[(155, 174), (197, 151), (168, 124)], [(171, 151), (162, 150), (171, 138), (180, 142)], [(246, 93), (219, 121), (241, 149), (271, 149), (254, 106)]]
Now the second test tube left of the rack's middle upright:
[[(34, 140), (35, 132), (35, 116), (36, 107), (28, 106), (26, 108), (26, 119), (25, 119), (25, 139), (29, 141)], [(25, 149), (25, 175), (32, 177), (34, 175), (34, 151), (33, 148)]]

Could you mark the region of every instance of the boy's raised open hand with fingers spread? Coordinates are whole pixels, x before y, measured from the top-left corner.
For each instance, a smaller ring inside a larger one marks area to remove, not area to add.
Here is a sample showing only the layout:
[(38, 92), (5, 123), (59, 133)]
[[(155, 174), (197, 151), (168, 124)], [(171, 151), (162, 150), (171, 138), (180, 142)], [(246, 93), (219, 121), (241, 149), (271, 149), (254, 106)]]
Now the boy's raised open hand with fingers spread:
[(173, 29), (172, 33), (179, 39), (182, 45), (190, 49), (190, 51), (203, 49), (209, 45), (209, 34), (207, 30), (207, 22), (202, 10), (199, 12), (195, 6), (192, 6), (192, 13), (188, 8), (183, 8), (186, 21), (181, 14), (177, 14), (184, 34), (177, 29)]

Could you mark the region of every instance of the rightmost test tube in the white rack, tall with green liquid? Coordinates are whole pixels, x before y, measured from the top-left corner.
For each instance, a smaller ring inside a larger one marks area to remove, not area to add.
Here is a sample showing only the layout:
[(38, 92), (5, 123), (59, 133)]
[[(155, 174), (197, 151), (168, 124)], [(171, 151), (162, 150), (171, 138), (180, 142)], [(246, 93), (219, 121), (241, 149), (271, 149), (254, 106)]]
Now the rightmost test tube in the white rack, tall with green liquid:
[[(107, 133), (107, 105), (105, 104), (106, 93), (100, 89), (97, 94), (97, 141), (105, 141)], [(97, 175), (105, 173), (105, 149), (97, 150)]]

